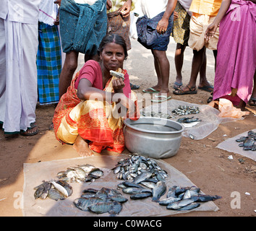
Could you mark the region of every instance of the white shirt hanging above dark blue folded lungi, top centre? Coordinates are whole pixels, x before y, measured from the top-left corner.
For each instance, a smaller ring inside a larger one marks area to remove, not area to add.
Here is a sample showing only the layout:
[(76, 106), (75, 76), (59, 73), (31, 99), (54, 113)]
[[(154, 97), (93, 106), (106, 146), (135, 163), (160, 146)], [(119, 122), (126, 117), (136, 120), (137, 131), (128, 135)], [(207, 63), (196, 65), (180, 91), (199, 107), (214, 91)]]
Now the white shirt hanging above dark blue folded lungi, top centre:
[(166, 11), (168, 0), (141, 0), (140, 7), (143, 14), (152, 19), (161, 12)]

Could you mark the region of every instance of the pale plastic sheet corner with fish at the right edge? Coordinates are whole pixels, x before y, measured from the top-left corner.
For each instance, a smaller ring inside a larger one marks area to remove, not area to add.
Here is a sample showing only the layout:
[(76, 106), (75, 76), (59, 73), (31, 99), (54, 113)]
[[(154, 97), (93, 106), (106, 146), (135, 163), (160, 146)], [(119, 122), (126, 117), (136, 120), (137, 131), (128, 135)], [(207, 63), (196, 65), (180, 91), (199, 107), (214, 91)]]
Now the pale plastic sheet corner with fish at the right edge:
[[(245, 131), (242, 134), (239, 134), (232, 138), (226, 139), (225, 141), (222, 141), (220, 144), (218, 144), (218, 146), (217, 146), (218, 149), (223, 149), (228, 152), (234, 152), (236, 154), (241, 154), (244, 157), (248, 157), (248, 158), (256, 161), (256, 151), (251, 151), (251, 150), (245, 151), (245, 150), (243, 150), (242, 147), (238, 146), (240, 143), (236, 142), (236, 139), (239, 139), (241, 136), (247, 136), (248, 131)], [(256, 132), (256, 129), (254, 129), (252, 131)]]

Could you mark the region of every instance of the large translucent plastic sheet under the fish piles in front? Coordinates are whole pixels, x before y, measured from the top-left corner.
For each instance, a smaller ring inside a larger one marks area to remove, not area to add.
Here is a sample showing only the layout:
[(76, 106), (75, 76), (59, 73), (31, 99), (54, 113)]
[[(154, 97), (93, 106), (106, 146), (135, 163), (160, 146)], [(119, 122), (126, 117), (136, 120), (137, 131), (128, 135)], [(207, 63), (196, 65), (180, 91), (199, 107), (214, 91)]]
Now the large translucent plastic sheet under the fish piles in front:
[[(23, 215), (24, 216), (109, 216), (105, 214), (94, 214), (92, 212), (83, 212), (74, 206), (74, 199), (77, 199), (82, 194), (85, 188), (116, 188), (123, 180), (117, 180), (116, 175), (111, 170), (121, 158), (127, 158), (128, 155), (122, 154), (118, 156), (94, 156), (86, 158), (75, 158), (69, 160), (54, 160), (49, 162), (38, 162), (33, 164), (24, 164), (24, 191), (23, 191)], [(180, 173), (168, 163), (162, 160), (155, 160), (166, 170), (168, 178), (166, 179), (167, 191), (171, 186), (194, 186), (184, 174)], [(34, 199), (35, 186), (40, 185), (42, 180), (57, 179), (56, 174), (61, 170), (67, 170), (67, 167), (82, 164), (95, 165), (104, 171), (104, 175), (98, 178), (93, 183), (70, 183), (73, 188), (72, 196), (69, 196), (63, 201), (54, 201), (52, 199)], [(198, 186), (200, 188), (200, 186)], [(121, 189), (120, 189), (121, 191)], [(166, 193), (161, 199), (166, 198)], [(218, 193), (217, 193), (218, 194)], [(117, 216), (120, 217), (148, 217), (148, 216), (168, 216), (171, 214), (192, 212), (192, 211), (218, 211), (218, 206), (213, 201), (201, 203), (197, 209), (190, 211), (174, 211), (166, 209), (166, 206), (161, 206), (156, 202), (151, 201), (152, 197), (147, 199), (132, 200), (129, 199), (129, 194), (123, 193), (128, 201), (123, 204), (123, 209)], [(221, 196), (221, 195), (219, 195)]]

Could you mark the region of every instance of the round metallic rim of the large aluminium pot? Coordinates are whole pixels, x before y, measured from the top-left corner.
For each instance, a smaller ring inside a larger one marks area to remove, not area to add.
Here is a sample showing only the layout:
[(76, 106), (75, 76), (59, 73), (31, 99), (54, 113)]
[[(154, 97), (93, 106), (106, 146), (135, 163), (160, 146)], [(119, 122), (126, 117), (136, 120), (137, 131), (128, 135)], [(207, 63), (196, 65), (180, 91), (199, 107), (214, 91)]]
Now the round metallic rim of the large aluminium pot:
[[(170, 122), (171, 120), (169, 119), (166, 119), (166, 118), (158, 118), (158, 117), (147, 117), (147, 116), (143, 116), (143, 117), (140, 117), (140, 118), (155, 118), (155, 119), (158, 119), (158, 120), (163, 120), (163, 121), (166, 121), (166, 122)], [(140, 118), (138, 120), (140, 120)], [(137, 120), (137, 121), (138, 121)], [(182, 133), (182, 131), (185, 130), (185, 127), (182, 123), (179, 123), (179, 122), (176, 122), (176, 121), (171, 121), (171, 123), (176, 123), (177, 125), (181, 126), (182, 129), (179, 130), (179, 131), (150, 131), (150, 130), (146, 130), (146, 129), (143, 129), (143, 128), (137, 128), (135, 126), (132, 126), (131, 124), (127, 123), (127, 121), (132, 121), (130, 118), (126, 118), (124, 119), (124, 125), (129, 127), (129, 128), (132, 128), (136, 131), (142, 131), (142, 132), (145, 132), (145, 133), (150, 133), (150, 134), (180, 134)], [(124, 127), (125, 129), (125, 127)]]

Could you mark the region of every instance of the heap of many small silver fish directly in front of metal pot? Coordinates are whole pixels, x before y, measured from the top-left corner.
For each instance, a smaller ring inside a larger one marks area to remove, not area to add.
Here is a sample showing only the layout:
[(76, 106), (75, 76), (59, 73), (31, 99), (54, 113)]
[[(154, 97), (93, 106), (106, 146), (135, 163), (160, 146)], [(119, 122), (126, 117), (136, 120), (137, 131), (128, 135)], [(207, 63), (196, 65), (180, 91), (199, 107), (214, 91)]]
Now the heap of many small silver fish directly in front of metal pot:
[(137, 154), (131, 154), (127, 159), (121, 159), (111, 170), (119, 180), (133, 180), (140, 183), (145, 180), (165, 180), (168, 177), (155, 160)]

